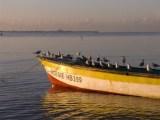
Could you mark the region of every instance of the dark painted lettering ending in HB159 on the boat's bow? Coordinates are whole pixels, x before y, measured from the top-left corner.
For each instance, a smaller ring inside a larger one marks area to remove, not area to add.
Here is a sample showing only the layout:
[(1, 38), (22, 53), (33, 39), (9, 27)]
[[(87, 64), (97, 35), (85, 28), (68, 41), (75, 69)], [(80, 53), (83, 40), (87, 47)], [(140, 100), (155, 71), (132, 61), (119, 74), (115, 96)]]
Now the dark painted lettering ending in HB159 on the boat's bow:
[(62, 73), (62, 72), (58, 72), (58, 71), (51, 71), (51, 73), (53, 76), (58, 77), (60, 79), (70, 80), (70, 81), (78, 82), (78, 83), (82, 82), (82, 77), (77, 76), (77, 75)]

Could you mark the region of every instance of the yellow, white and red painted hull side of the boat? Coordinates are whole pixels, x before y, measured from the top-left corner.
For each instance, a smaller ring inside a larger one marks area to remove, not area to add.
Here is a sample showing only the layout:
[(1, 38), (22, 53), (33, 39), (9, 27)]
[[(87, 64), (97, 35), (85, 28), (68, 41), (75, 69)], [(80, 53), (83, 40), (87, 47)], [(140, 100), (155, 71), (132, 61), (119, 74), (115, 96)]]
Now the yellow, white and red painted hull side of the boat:
[(40, 62), (53, 85), (82, 90), (160, 98), (159, 77), (116, 74), (47, 59)]

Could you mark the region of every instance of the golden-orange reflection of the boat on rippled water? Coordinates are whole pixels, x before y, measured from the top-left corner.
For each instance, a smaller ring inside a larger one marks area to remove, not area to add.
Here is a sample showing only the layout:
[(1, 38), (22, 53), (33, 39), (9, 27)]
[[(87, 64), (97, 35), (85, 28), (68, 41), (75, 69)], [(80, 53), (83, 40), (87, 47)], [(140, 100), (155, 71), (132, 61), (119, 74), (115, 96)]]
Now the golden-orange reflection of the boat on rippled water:
[(53, 87), (42, 100), (47, 118), (158, 119), (160, 101), (133, 96), (80, 92)]

